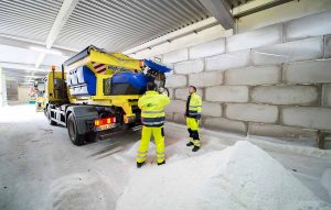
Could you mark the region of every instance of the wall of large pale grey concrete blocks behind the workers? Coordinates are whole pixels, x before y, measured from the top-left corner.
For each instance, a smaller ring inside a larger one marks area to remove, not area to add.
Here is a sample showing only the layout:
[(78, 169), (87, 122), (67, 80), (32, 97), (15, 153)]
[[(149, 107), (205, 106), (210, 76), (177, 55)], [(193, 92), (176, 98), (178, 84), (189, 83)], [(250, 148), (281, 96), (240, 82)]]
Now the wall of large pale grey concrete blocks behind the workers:
[(331, 132), (331, 11), (162, 55), (174, 66), (168, 120), (184, 123), (188, 86), (203, 128), (284, 139)]

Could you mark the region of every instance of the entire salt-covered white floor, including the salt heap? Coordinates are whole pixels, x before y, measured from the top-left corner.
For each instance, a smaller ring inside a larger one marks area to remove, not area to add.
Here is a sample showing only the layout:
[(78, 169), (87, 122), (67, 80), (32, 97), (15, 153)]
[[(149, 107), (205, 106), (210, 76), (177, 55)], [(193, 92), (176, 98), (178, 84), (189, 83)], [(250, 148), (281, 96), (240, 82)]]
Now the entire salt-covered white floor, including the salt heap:
[(0, 209), (330, 209), (325, 151), (202, 130), (192, 153), (167, 123), (167, 164), (151, 142), (137, 169), (139, 132), (77, 147), (31, 106), (0, 110)]

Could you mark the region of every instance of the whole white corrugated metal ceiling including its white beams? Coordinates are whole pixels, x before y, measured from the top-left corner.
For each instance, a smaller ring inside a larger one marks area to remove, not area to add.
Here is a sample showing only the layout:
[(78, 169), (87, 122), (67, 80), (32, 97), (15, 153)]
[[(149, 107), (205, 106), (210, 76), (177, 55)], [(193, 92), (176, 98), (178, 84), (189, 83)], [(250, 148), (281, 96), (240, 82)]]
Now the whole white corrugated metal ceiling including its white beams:
[[(30, 80), (88, 45), (124, 52), (209, 19), (202, 1), (0, 0), (0, 66)], [(249, 0), (222, 1), (231, 10)]]

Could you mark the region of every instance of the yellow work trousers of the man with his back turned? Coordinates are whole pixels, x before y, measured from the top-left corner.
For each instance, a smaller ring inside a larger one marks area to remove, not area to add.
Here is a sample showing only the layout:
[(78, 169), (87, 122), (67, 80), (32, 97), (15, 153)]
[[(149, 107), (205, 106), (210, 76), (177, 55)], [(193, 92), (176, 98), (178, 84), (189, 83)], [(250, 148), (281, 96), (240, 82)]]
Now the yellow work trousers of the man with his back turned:
[(157, 146), (158, 164), (162, 163), (166, 159), (163, 126), (142, 126), (141, 141), (137, 154), (137, 163), (143, 163), (146, 161), (151, 135), (153, 135)]

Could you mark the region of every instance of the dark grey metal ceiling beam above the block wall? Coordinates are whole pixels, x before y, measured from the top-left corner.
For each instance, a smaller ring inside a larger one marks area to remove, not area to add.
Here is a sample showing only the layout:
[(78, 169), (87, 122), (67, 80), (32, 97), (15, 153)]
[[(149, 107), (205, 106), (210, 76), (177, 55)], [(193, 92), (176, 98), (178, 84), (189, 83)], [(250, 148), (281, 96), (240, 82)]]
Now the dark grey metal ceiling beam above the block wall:
[(225, 7), (224, 0), (200, 0), (200, 2), (225, 30), (234, 29), (235, 20)]

